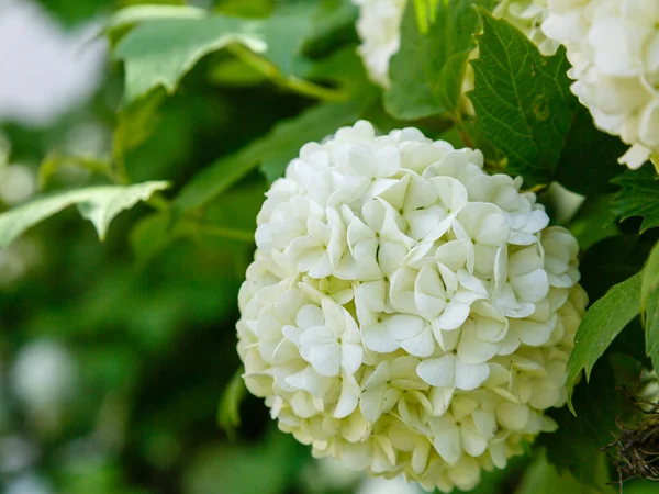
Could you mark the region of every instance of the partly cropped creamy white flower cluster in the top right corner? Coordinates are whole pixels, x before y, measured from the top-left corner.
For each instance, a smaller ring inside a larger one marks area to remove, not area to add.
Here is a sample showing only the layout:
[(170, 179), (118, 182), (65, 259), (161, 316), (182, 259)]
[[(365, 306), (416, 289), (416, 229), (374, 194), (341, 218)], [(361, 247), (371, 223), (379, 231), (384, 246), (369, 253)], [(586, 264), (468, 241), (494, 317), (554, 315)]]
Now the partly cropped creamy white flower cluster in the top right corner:
[(545, 33), (563, 44), (572, 91), (595, 124), (619, 135), (619, 161), (659, 164), (659, 1), (549, 0)]

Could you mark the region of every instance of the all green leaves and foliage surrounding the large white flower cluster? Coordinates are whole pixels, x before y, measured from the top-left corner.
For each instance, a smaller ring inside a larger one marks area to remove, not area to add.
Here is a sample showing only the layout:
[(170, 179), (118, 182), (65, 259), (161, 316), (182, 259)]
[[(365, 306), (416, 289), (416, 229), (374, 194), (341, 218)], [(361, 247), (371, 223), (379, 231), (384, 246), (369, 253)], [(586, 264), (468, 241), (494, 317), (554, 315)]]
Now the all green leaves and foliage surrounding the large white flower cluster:
[[(116, 8), (104, 34), (123, 71), (47, 128), (0, 122), (11, 142), (0, 137), (0, 180), (21, 164), (46, 193), (0, 204), (0, 446), (24, 438), (40, 452), (20, 472), (0, 458), (0, 490), (31, 472), (70, 493), (361, 489), (275, 430), (241, 378), (235, 323), (269, 184), (303, 144), (367, 119), (481, 149), (488, 171), (521, 176), (581, 247), (592, 305), (568, 362), (569, 407), (472, 492), (617, 491), (601, 448), (616, 419), (635, 419), (619, 388), (659, 367), (659, 179), (649, 164), (618, 165), (627, 146), (571, 96), (562, 48), (541, 56), (488, 13), (502, 14), (496, 0), (409, 0), (382, 89), (357, 53), (351, 0), (42, 3), (65, 25)], [(583, 202), (546, 190), (552, 181)], [(171, 201), (158, 193), (168, 184)], [(69, 205), (103, 244), (56, 214)], [(14, 366), (43, 339), (70, 352), (76, 391), (34, 408)]]

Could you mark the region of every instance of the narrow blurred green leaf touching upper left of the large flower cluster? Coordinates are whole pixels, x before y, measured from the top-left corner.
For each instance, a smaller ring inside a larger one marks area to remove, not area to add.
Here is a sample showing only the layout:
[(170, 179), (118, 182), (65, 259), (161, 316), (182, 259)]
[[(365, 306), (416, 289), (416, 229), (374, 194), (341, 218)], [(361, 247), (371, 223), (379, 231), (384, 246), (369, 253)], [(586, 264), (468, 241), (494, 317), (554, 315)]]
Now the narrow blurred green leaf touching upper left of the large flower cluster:
[(272, 181), (298, 156), (303, 144), (320, 141), (342, 125), (351, 124), (371, 100), (327, 103), (314, 106), (294, 119), (283, 121), (268, 135), (237, 153), (222, 157), (196, 175), (181, 190), (175, 207), (182, 212), (205, 204), (249, 173), (259, 164)]

